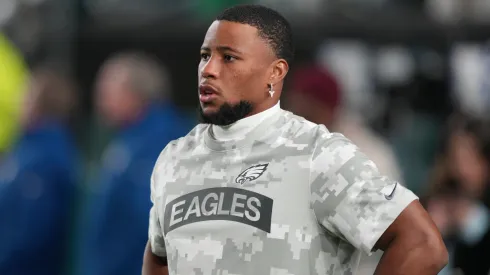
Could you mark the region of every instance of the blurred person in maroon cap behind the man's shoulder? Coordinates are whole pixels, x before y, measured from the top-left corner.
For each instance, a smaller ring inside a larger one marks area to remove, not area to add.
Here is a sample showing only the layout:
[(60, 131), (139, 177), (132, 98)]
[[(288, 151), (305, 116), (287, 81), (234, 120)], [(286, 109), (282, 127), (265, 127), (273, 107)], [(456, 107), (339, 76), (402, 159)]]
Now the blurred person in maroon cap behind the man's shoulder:
[[(392, 149), (363, 123), (359, 115), (344, 108), (342, 98), (342, 90), (335, 77), (326, 68), (309, 65), (293, 73), (291, 89), (284, 101), (285, 109), (345, 135), (376, 163), (382, 173), (400, 181)], [(359, 274), (373, 274), (382, 255), (382, 251), (377, 251), (372, 256), (363, 256)]]

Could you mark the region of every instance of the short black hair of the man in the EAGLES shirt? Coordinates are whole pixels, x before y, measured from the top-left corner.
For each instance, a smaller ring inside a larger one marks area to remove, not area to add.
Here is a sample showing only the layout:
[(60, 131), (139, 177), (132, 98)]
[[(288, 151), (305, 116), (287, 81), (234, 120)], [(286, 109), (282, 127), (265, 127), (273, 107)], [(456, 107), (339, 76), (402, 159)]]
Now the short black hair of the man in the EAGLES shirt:
[(278, 58), (288, 63), (294, 58), (293, 32), (289, 22), (277, 11), (261, 5), (236, 5), (224, 10), (216, 20), (247, 24), (272, 47)]

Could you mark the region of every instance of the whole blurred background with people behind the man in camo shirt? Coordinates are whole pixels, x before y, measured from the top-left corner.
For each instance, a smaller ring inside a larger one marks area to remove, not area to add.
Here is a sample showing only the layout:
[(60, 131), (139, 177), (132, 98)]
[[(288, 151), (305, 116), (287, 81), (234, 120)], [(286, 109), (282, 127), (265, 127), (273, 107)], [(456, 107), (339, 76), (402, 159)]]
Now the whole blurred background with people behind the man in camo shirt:
[(1, 0), (0, 274), (140, 274), (153, 164), (196, 124), (200, 45), (240, 3), (293, 26), (282, 107), (420, 196), (441, 274), (490, 274), (490, 0)]

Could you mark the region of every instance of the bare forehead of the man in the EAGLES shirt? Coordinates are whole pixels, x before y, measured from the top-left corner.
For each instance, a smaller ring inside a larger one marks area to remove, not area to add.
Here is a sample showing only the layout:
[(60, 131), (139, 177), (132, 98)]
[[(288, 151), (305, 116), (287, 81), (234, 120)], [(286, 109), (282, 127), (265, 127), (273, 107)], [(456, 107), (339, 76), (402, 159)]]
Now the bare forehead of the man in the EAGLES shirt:
[[(203, 47), (229, 46), (236, 50), (254, 49), (258, 43), (265, 43), (258, 35), (257, 28), (230, 21), (214, 21), (204, 37)], [(243, 52), (242, 51), (242, 52)]]

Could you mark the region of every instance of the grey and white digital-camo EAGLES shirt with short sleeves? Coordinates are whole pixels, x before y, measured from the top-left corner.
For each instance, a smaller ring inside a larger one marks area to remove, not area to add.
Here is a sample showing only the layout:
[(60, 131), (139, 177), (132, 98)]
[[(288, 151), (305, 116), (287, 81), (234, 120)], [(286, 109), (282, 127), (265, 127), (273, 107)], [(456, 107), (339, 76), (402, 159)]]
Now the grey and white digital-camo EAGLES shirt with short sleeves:
[(414, 199), (342, 135), (280, 110), (240, 140), (199, 125), (169, 144), (149, 237), (170, 274), (356, 274)]

